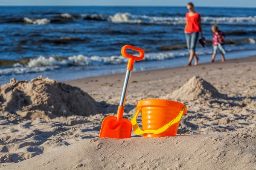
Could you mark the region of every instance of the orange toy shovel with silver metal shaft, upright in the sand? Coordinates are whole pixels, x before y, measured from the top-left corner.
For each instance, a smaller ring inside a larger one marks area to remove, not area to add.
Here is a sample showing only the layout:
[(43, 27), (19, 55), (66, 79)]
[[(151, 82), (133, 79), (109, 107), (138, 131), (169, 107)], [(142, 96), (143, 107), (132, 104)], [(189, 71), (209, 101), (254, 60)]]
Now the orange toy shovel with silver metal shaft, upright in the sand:
[[(140, 53), (140, 57), (133, 56), (131, 54), (126, 53), (126, 49), (131, 49), (134, 51), (138, 51)], [(128, 91), (128, 86), (131, 78), (131, 71), (133, 70), (135, 60), (140, 61), (144, 58), (144, 51), (141, 48), (134, 47), (131, 45), (125, 45), (122, 47), (121, 54), (123, 57), (129, 58), (128, 64), (126, 68), (125, 82), (122, 90), (122, 96), (120, 99), (120, 104), (117, 109), (116, 116), (108, 116), (102, 122), (102, 127), (99, 133), (100, 138), (130, 138), (132, 125), (130, 120), (122, 118), (123, 113), (125, 111), (125, 99)]]

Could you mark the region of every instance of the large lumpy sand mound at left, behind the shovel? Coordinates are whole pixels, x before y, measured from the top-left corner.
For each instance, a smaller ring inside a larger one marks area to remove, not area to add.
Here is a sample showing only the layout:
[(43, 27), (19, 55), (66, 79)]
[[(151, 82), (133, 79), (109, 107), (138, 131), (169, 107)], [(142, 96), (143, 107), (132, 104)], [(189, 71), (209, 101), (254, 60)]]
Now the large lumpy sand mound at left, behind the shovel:
[(80, 88), (38, 77), (31, 82), (16, 81), (0, 87), (0, 111), (27, 119), (99, 113), (98, 103)]

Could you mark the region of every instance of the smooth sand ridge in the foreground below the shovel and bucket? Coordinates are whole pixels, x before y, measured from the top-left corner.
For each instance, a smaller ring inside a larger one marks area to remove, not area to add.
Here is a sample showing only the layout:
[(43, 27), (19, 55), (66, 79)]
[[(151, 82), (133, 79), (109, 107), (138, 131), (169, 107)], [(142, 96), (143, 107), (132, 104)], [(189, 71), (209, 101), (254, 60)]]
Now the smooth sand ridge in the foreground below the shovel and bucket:
[(3, 170), (253, 170), (255, 148), (255, 128), (154, 139), (94, 138), (11, 164)]

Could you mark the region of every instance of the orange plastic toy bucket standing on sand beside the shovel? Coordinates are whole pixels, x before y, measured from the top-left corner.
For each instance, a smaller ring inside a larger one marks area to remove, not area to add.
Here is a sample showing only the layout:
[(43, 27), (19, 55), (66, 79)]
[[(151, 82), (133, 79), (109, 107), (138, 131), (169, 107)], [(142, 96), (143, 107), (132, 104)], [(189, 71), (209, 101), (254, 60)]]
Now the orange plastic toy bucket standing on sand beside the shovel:
[[(172, 120), (175, 124), (169, 124), (167, 130), (164, 130), (163, 133), (153, 134), (145, 133), (143, 137), (153, 138), (153, 137), (164, 137), (164, 136), (175, 136), (177, 134), (178, 126), (180, 124), (180, 119), (183, 114), (187, 113), (187, 108), (184, 104), (179, 102), (173, 102), (170, 100), (161, 100), (161, 99), (145, 99), (137, 102), (137, 113), (141, 111), (142, 119), (142, 128), (144, 130), (159, 130), (163, 128), (168, 123), (171, 123)], [(181, 113), (181, 110), (182, 113)], [(177, 116), (180, 115), (180, 119), (177, 119)], [(137, 115), (135, 119), (137, 118)], [(134, 118), (133, 118), (134, 119)], [(137, 122), (136, 122), (137, 123)], [(139, 128), (139, 127), (137, 127)], [(134, 131), (135, 132), (135, 131)]]

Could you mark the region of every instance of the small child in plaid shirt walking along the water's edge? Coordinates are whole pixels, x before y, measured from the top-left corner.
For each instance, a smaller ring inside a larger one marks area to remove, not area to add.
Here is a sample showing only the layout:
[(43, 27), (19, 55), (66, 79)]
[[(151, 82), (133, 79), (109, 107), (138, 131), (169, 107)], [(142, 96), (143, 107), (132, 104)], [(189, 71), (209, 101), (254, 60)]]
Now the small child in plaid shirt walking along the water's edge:
[(214, 62), (214, 59), (216, 57), (217, 51), (221, 52), (221, 57), (222, 57), (222, 62), (225, 61), (224, 54), (226, 54), (224, 50), (224, 38), (225, 34), (218, 29), (218, 26), (214, 25), (212, 26), (212, 32), (213, 32), (213, 37), (212, 37), (212, 46), (213, 46), (213, 54), (212, 54), (212, 59), (210, 62)]

